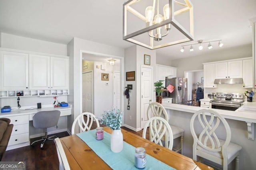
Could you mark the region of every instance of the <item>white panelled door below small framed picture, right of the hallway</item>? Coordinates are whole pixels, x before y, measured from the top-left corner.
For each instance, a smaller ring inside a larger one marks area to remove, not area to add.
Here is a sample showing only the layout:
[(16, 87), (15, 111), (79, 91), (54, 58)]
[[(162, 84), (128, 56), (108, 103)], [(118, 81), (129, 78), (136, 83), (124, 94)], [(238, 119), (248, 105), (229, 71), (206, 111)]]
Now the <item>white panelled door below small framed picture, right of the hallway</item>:
[(152, 101), (153, 84), (152, 84), (152, 67), (142, 66), (141, 67), (141, 111), (140, 111), (140, 127), (143, 129), (147, 117), (148, 105)]

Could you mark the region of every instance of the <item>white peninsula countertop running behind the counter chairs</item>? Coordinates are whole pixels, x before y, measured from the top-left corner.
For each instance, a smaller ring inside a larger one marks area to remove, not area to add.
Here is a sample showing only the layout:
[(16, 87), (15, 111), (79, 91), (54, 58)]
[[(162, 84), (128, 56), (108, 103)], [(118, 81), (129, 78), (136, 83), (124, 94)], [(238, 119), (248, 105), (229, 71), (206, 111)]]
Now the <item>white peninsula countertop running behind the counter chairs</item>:
[[(164, 106), (165, 109), (185, 111), (188, 113), (195, 113), (196, 111), (203, 109), (202, 107), (197, 107), (197, 106), (187, 106), (187, 105), (171, 104), (171, 103), (163, 103), (162, 105)], [(244, 105), (241, 107), (245, 107), (245, 106), (255, 107), (256, 109), (256, 102), (244, 102)], [(239, 109), (237, 111), (229, 111), (229, 110), (222, 110), (222, 109), (213, 109), (213, 110), (217, 111), (220, 115), (222, 115), (224, 118), (227, 118), (227, 119), (234, 119), (239, 121), (256, 123), (256, 113), (248, 112), (248, 111), (239, 111)]]

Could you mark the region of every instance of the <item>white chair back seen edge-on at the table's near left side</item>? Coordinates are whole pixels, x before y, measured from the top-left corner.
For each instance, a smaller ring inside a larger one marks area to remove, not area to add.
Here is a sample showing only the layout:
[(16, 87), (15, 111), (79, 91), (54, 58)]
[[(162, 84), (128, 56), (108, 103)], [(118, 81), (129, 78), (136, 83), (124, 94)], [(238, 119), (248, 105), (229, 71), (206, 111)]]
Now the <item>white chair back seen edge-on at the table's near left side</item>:
[(56, 150), (59, 158), (59, 169), (60, 170), (70, 170), (69, 164), (68, 164), (68, 159), (66, 157), (66, 154), (64, 152), (64, 149), (62, 147), (60, 139), (57, 137), (54, 139), (55, 145), (56, 145)]

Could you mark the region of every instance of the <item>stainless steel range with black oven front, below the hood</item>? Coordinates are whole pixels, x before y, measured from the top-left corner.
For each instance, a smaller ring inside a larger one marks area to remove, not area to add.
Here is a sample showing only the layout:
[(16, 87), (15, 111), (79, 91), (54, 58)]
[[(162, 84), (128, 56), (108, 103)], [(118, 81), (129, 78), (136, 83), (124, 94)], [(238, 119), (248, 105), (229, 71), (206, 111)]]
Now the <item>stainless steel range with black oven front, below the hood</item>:
[(238, 109), (244, 102), (242, 93), (216, 93), (216, 99), (212, 100), (212, 108), (232, 110)]

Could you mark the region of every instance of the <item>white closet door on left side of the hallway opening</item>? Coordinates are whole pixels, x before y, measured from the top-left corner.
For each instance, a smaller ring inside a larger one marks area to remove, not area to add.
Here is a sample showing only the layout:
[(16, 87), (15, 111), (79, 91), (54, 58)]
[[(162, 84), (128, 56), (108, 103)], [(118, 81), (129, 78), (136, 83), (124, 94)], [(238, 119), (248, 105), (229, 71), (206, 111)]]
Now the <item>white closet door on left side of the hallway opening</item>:
[(83, 73), (82, 75), (82, 100), (83, 112), (93, 113), (93, 86), (92, 86), (92, 71)]

